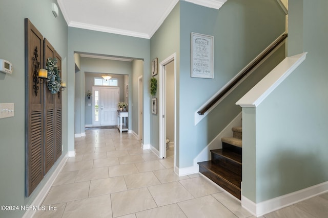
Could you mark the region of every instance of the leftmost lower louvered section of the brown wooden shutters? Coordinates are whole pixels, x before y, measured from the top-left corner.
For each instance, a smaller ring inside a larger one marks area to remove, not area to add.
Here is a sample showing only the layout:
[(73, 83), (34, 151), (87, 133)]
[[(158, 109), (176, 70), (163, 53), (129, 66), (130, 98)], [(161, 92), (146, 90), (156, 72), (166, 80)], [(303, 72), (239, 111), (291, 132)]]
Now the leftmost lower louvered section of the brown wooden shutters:
[(28, 147), (29, 193), (31, 193), (43, 179), (42, 111), (31, 112), (30, 124), (30, 143)]

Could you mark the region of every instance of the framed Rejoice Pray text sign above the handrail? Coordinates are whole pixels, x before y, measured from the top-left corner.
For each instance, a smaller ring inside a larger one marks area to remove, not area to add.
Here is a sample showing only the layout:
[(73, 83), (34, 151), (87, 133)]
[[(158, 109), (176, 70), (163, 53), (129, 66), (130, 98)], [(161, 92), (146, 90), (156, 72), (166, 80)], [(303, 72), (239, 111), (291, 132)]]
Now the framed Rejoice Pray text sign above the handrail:
[(191, 33), (190, 76), (214, 78), (214, 36)]

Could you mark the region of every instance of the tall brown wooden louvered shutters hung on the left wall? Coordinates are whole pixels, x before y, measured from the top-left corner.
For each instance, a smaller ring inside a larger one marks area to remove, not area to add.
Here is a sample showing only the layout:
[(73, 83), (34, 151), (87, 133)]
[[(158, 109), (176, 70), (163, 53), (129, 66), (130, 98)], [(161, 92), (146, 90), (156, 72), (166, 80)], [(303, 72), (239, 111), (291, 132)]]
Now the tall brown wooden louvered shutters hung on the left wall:
[(46, 68), (48, 58), (56, 57), (58, 68), (61, 69), (61, 57), (28, 18), (25, 18), (24, 23), (25, 180), (26, 196), (30, 196), (61, 155), (61, 96), (59, 92), (51, 94), (46, 81), (40, 83), (37, 78), (39, 68)]

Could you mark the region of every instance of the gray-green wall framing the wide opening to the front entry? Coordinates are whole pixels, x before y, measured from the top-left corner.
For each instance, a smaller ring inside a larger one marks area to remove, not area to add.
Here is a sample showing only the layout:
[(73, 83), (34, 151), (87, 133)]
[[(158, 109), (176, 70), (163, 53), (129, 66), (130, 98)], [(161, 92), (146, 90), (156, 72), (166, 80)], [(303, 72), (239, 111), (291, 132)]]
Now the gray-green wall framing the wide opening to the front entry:
[[(150, 66), (149, 41), (149, 39), (68, 28), (68, 107), (74, 108), (74, 86), (81, 85), (74, 84), (74, 53), (129, 57), (132, 59), (144, 60), (145, 66)], [(144, 69), (144, 77), (147, 81), (150, 78), (150, 70), (148, 67)], [(129, 83), (132, 84), (132, 77), (130, 78)], [(137, 92), (137, 87), (136, 89), (132, 87), (132, 89), (132, 92)], [(147, 91), (148, 83), (145, 83), (144, 93)], [(145, 102), (149, 102), (149, 97), (147, 95), (145, 95)], [(145, 114), (149, 114), (150, 109), (148, 107), (144, 108)], [(144, 116), (144, 118), (145, 133), (147, 133), (147, 135), (145, 134), (144, 142), (149, 143), (149, 116)], [(68, 136), (68, 149), (69, 151), (74, 151), (74, 110), (68, 112)]]

